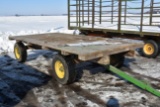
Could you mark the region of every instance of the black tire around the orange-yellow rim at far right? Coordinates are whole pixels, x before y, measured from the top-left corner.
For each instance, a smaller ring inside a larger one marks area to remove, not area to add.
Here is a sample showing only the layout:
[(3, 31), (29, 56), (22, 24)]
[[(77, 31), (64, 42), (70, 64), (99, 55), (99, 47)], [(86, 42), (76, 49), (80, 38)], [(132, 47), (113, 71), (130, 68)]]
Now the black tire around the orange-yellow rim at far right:
[(146, 54), (144, 52), (144, 49), (142, 49), (143, 56), (145, 56), (147, 58), (156, 58), (159, 55), (159, 51), (160, 51), (158, 43), (156, 41), (154, 41), (154, 40), (147, 40), (147, 41), (145, 41), (145, 44), (148, 44), (148, 43), (152, 44), (154, 46), (154, 53), (151, 54), (151, 55), (148, 55), (148, 54)]

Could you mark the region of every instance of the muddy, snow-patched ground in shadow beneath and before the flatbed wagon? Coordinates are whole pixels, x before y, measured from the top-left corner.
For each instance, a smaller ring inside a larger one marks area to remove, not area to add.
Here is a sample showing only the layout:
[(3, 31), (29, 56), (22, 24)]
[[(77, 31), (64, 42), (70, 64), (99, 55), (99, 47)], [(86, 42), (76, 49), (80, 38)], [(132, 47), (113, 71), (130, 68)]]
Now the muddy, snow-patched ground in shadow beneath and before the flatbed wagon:
[[(78, 64), (76, 82), (60, 85), (48, 76), (55, 53), (33, 51), (27, 62), (0, 55), (0, 107), (160, 107), (160, 98), (107, 71)], [(160, 58), (127, 57), (121, 68), (160, 90)]]

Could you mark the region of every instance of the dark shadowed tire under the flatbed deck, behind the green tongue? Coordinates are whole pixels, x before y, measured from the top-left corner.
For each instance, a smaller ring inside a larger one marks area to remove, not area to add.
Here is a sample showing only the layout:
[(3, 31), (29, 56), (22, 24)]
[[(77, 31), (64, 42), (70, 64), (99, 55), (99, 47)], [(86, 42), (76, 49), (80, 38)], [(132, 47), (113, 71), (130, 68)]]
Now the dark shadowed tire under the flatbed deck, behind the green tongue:
[(117, 67), (117, 68), (121, 68), (124, 64), (124, 54), (117, 54), (117, 55), (111, 55), (110, 56), (110, 64)]

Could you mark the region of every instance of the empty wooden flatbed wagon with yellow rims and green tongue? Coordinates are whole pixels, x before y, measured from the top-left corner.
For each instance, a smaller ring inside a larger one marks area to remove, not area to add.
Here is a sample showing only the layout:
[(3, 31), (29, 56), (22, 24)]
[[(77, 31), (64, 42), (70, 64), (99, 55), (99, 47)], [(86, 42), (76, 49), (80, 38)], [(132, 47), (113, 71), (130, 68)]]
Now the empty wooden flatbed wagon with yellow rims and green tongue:
[(14, 53), (19, 62), (26, 61), (29, 48), (57, 51), (58, 54), (54, 55), (52, 59), (50, 74), (61, 84), (70, 84), (75, 81), (76, 63), (90, 61), (106, 66), (109, 71), (160, 97), (160, 92), (150, 85), (116, 68), (123, 65), (124, 55), (128, 51), (143, 46), (140, 41), (131, 42), (123, 39), (59, 33), (15, 36), (9, 39), (17, 41)]

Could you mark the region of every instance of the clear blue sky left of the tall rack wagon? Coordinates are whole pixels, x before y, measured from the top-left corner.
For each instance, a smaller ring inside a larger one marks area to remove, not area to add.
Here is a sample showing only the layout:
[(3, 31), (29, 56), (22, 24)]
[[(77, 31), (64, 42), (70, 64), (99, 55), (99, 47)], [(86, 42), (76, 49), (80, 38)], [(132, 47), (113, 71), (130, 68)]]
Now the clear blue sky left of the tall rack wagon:
[(0, 0), (0, 15), (67, 13), (67, 0)]

